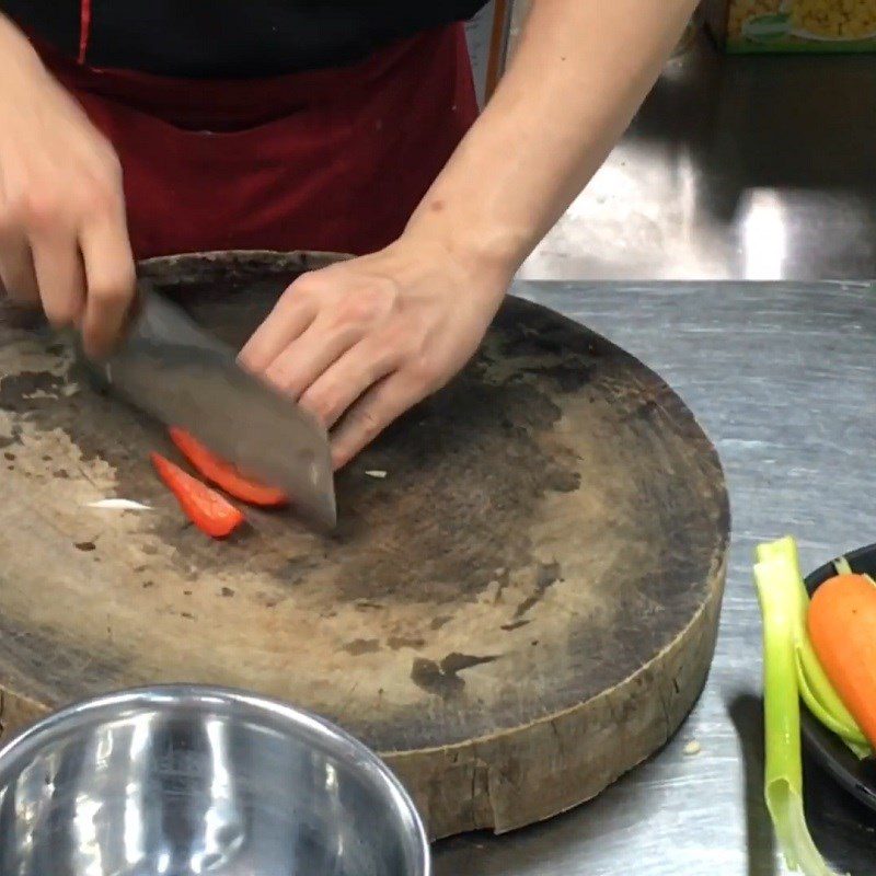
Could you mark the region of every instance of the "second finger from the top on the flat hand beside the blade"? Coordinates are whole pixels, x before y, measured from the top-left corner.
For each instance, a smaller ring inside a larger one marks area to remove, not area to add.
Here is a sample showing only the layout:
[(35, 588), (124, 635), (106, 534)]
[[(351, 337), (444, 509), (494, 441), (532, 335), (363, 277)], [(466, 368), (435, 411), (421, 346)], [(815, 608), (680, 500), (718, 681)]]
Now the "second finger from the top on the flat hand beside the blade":
[(265, 379), (291, 399), (298, 399), (316, 379), (353, 348), (365, 334), (361, 325), (338, 326), (318, 316), (265, 369)]

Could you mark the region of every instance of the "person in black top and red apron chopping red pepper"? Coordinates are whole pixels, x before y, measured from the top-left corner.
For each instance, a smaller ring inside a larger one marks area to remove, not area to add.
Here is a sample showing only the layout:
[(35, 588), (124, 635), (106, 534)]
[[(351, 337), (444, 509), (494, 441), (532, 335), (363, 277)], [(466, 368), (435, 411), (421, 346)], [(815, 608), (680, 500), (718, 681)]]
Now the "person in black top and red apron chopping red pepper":
[(299, 277), (240, 354), (344, 465), (471, 358), (695, 0), (532, 0), (479, 114), (482, 4), (0, 0), (5, 293), (100, 357), (135, 258), (357, 256)]

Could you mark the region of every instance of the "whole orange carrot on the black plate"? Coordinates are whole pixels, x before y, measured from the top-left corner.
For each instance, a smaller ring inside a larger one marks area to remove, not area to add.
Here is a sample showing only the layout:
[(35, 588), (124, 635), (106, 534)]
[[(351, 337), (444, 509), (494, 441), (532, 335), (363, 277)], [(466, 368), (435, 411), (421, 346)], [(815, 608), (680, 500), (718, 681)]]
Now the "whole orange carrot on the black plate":
[(837, 693), (876, 747), (876, 587), (864, 575), (830, 578), (812, 597), (807, 626)]

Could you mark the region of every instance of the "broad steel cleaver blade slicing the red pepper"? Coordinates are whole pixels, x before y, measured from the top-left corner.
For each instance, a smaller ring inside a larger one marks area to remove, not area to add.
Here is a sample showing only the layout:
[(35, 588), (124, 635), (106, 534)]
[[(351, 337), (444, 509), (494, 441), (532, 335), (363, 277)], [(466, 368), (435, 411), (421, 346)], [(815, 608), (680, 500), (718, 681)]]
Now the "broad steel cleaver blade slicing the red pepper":
[(126, 338), (100, 362), (100, 382), (168, 426), (180, 426), (218, 457), (283, 489), (308, 522), (337, 521), (328, 437), (315, 417), (246, 373), (234, 350), (181, 308), (138, 283)]

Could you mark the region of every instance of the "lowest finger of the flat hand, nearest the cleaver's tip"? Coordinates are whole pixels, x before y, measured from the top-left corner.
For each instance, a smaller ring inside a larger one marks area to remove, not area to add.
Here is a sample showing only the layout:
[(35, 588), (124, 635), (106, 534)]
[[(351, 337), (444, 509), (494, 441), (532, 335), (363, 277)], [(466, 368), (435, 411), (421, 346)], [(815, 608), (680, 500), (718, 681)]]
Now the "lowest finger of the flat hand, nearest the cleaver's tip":
[(350, 407), (332, 436), (335, 469), (346, 465), (390, 423), (425, 396), (425, 388), (411, 381), (402, 371), (395, 371), (376, 383)]

